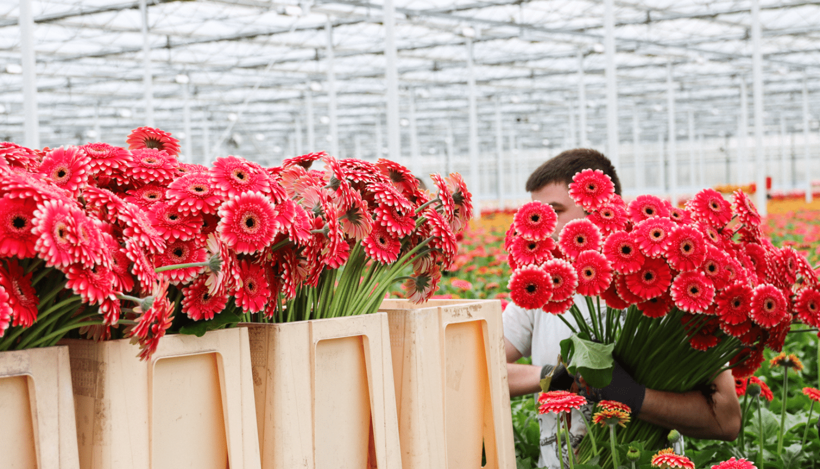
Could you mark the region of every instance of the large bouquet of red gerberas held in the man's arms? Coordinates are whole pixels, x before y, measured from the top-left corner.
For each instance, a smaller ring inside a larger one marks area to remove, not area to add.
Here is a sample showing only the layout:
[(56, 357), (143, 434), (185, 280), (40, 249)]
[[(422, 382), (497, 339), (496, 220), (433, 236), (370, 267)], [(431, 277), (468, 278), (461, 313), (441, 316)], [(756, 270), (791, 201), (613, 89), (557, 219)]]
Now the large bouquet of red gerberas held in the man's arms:
[[(521, 307), (570, 313), (574, 321), (562, 318), (575, 334), (563, 341), (563, 358), (590, 385), (608, 384), (611, 354), (651, 389), (695, 389), (729, 368), (749, 376), (763, 348), (782, 348), (792, 321), (820, 322), (817, 275), (793, 248), (763, 238), (743, 192), (733, 195), (734, 210), (712, 189), (686, 208), (651, 195), (626, 205), (607, 175), (585, 170), (570, 196), (589, 216), (567, 223), (557, 244), (551, 207), (534, 202), (517, 212), (506, 240), (509, 288)], [(573, 294), (585, 296), (588, 314)], [(634, 421), (619, 440), (656, 445), (665, 431)], [(599, 431), (591, 433), (582, 462)], [(602, 461), (611, 464), (608, 455)]]

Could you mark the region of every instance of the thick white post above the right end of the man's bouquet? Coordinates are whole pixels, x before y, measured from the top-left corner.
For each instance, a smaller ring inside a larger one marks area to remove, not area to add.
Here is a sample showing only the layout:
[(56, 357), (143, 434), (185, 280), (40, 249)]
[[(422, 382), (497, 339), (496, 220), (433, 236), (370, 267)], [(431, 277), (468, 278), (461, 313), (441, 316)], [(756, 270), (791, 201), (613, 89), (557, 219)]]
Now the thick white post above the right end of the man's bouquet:
[(762, 216), (766, 207), (766, 155), (763, 154), (763, 55), (760, 50), (760, 0), (752, 0), (752, 93), (754, 101), (755, 202)]

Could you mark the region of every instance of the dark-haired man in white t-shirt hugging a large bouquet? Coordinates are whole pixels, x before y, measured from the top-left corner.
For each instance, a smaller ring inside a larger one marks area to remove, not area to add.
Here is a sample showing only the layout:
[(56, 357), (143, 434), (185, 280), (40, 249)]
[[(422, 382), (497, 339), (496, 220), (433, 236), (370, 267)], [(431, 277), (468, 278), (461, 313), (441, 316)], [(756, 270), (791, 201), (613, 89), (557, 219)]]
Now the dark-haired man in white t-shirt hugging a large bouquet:
[[(605, 231), (602, 236), (597, 232), (587, 233), (584, 230), (583, 224), (578, 221), (584, 219), (587, 212), (571, 198), (569, 184), (572, 183), (572, 178), (576, 173), (584, 170), (592, 170), (589, 171), (590, 184), (612, 184), (613, 187), (608, 190), (614, 190), (617, 194), (614, 197), (620, 196), (620, 181), (612, 163), (597, 151), (581, 148), (567, 150), (544, 162), (530, 175), (526, 182), (526, 190), (531, 193), (534, 201), (540, 201), (553, 207), (554, 215), (549, 211), (541, 213), (535, 209), (535, 212), (532, 213), (519, 211), (517, 216), (530, 217), (528, 220), (542, 221), (540, 223), (542, 229), (544, 226), (551, 225), (554, 225), (554, 229), (551, 234), (545, 235), (542, 241), (530, 241), (526, 246), (516, 247), (513, 245), (522, 243), (522, 237), (508, 238), (509, 248), (516, 250), (519, 258), (530, 254), (537, 256), (539, 250), (557, 251), (555, 241), (558, 241), (558, 233), (561, 232), (564, 226), (567, 226), (567, 230), (564, 230), (565, 237), (568, 238), (567, 233), (572, 232), (572, 239), (561, 239), (559, 241), (564, 252), (574, 252), (577, 248), (578, 253), (582, 253), (585, 249), (588, 249), (585, 244), (601, 244), (604, 241), (600, 238), (606, 238), (607, 233)], [(594, 178), (594, 173), (602, 173), (600, 181)], [(604, 175), (608, 175), (608, 179)], [(609, 180), (612, 182), (608, 182)], [(594, 191), (592, 193), (594, 194)], [(672, 209), (671, 206), (662, 207), (662, 209), (664, 208), (667, 211)], [(625, 220), (626, 213), (618, 212), (619, 210), (623, 211), (618, 204), (612, 204), (612, 210), (609, 211), (599, 209), (594, 213), (594, 216), (601, 218), (596, 220), (596, 225), (617, 226), (625, 224), (626, 222), (621, 219)], [(544, 220), (540, 219), (542, 216), (553, 216), (553, 223), (548, 221), (547, 224), (544, 224)], [(518, 225), (526, 225), (526, 220), (518, 223)], [(613, 231), (617, 229), (622, 229), (622, 227), (613, 228)], [(598, 238), (595, 238), (596, 235)], [(534, 239), (532, 236), (527, 238)], [(538, 237), (536, 236), (535, 239), (538, 239)], [(573, 244), (579, 245), (576, 247)], [(510, 258), (511, 262), (515, 262), (512, 255)], [(595, 259), (590, 259), (589, 262), (590, 272), (594, 272)], [(629, 262), (629, 260), (625, 259), (624, 262)], [(561, 293), (566, 298), (555, 298), (556, 290), (551, 288), (554, 285), (549, 285), (553, 298), (547, 303), (546, 307), (541, 308), (534, 306), (535, 303), (543, 304), (537, 300), (533, 304), (527, 304), (530, 302), (527, 301), (527, 291), (525, 290), (525, 294), (519, 294), (517, 301), (510, 303), (503, 312), (504, 345), (508, 361), (508, 382), (511, 396), (540, 391), (540, 380), (548, 375), (550, 371), (553, 371), (554, 367), (558, 367), (558, 369), (553, 372), (550, 389), (570, 389), (575, 385), (572, 376), (567, 374), (563, 366), (556, 363), (556, 358), (560, 353), (559, 342), (567, 339), (572, 334), (572, 330), (557, 314), (566, 311), (573, 302), (578, 300), (583, 302), (583, 297), (580, 294), (596, 296), (596, 294), (590, 294), (590, 292), (595, 291), (596, 279), (594, 275), (590, 275), (588, 279), (585, 278), (586, 275), (581, 275), (579, 279), (575, 272), (567, 272), (567, 274), (567, 280), (572, 281), (566, 282), (566, 286), (571, 287), (565, 288), (567, 289), (566, 294)], [(526, 275), (526, 271), (519, 270), (519, 275)], [(572, 278), (573, 276), (575, 278)], [(553, 283), (555, 278), (561, 278), (560, 273), (558, 276), (553, 275)], [(511, 283), (515, 280), (517, 279), (511, 279)], [(605, 283), (608, 284), (609, 279), (606, 279)], [(540, 294), (537, 289), (537, 282), (531, 282), (530, 285), (535, 285), (535, 287), (528, 289), (533, 297)], [(572, 285), (576, 285), (576, 287), (572, 288)], [(585, 292), (581, 289), (585, 289)], [(579, 294), (573, 297), (572, 294), (576, 292)], [(603, 293), (599, 292), (599, 294)], [(550, 308), (556, 309), (554, 311), (556, 314), (550, 314), (550, 312), (553, 312)], [(585, 311), (586, 306), (584, 305), (580, 309)], [(567, 319), (572, 321), (572, 318)], [(532, 365), (516, 363), (523, 356), (532, 357)], [(649, 421), (658, 426), (679, 430), (684, 435), (696, 438), (732, 440), (736, 438), (740, 430), (740, 404), (736, 398), (734, 384), (735, 380), (731, 376), (731, 371), (724, 371), (713, 381), (713, 389), (709, 389), (707, 392), (695, 390), (687, 393), (671, 393), (647, 389), (632, 379), (631, 374), (616, 362), (611, 384), (604, 389), (600, 389), (597, 394), (600, 398), (626, 403), (632, 408), (633, 417)], [(584, 408), (581, 410), (584, 410)], [(577, 412), (572, 412), (571, 433), (573, 444), (581, 441), (585, 430), (584, 422)], [(590, 409), (586, 409), (586, 412), (589, 413)], [(589, 417), (589, 415), (586, 416), (587, 419)], [(539, 419), (541, 427), (540, 465), (558, 467), (558, 449), (555, 447), (557, 422), (553, 414), (540, 415)]]

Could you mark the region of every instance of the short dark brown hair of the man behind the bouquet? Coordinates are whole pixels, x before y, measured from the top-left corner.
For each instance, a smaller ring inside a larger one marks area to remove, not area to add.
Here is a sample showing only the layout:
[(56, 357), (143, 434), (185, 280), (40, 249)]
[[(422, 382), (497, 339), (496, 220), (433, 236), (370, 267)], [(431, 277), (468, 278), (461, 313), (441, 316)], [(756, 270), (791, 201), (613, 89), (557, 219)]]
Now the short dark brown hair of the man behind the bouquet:
[(572, 176), (585, 169), (604, 171), (615, 184), (615, 194), (621, 195), (621, 180), (617, 179), (615, 166), (603, 153), (590, 148), (566, 150), (538, 166), (526, 180), (526, 191), (535, 192), (556, 182), (570, 184)]

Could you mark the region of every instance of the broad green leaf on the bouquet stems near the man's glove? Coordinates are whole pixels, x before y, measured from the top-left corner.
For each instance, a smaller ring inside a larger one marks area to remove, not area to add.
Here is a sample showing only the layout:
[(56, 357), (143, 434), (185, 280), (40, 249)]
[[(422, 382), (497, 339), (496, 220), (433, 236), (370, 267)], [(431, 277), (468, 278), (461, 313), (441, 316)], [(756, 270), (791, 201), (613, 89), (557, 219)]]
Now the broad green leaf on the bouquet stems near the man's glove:
[(581, 373), (586, 383), (594, 388), (604, 388), (613, 380), (613, 348), (615, 344), (599, 344), (573, 334), (561, 341), (561, 356), (570, 357), (567, 366), (571, 375)]

